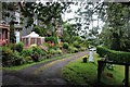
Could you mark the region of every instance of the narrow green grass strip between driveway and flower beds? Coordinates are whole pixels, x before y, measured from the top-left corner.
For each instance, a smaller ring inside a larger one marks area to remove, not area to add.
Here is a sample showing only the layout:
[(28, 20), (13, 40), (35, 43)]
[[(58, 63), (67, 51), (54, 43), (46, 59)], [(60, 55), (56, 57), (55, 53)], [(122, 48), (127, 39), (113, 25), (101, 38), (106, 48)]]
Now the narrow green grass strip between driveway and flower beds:
[(60, 57), (55, 57), (53, 59), (44, 59), (44, 60), (39, 61), (39, 62), (32, 62), (32, 63), (27, 63), (27, 64), (17, 65), (17, 66), (0, 67), (0, 70), (20, 71), (20, 70), (26, 69), (28, 66), (35, 65), (35, 64), (46, 63), (46, 62), (52, 61), (54, 59), (57, 60), (57, 59), (61, 59), (61, 58), (67, 58), (69, 55), (72, 55), (72, 54), (63, 54), (63, 55), (60, 55)]

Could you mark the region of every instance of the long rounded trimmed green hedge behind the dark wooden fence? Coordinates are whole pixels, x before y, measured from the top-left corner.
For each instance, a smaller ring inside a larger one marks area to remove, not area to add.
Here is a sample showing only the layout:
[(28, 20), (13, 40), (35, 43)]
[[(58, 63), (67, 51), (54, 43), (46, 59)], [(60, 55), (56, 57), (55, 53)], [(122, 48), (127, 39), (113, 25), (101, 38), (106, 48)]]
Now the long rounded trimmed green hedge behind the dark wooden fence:
[(109, 61), (130, 63), (130, 52), (115, 51), (115, 50), (109, 50), (105, 47), (98, 47), (96, 53), (99, 53), (100, 57), (102, 58), (107, 57)]

